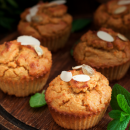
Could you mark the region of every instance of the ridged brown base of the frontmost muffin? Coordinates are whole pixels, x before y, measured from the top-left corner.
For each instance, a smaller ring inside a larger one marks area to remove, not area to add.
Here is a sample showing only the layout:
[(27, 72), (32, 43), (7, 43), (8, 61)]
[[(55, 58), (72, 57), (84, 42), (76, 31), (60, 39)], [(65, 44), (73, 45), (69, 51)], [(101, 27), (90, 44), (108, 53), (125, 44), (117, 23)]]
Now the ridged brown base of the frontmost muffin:
[(77, 129), (77, 130), (84, 130), (91, 128), (99, 123), (99, 121), (104, 116), (107, 107), (103, 109), (98, 114), (91, 114), (86, 115), (84, 117), (80, 116), (74, 116), (69, 114), (63, 114), (55, 111), (51, 107), (49, 107), (50, 113), (54, 119), (54, 121), (61, 127), (67, 128), (67, 129)]

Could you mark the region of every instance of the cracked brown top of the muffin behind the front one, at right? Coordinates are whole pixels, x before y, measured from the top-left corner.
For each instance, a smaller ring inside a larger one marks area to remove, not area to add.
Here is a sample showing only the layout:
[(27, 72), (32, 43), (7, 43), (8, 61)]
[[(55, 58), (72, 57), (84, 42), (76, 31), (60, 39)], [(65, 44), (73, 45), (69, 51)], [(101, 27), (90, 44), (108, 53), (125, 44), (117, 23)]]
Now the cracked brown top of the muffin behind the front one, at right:
[(114, 41), (104, 41), (97, 36), (96, 31), (88, 31), (74, 48), (74, 58), (79, 64), (99, 68), (121, 65), (130, 60), (129, 40), (121, 40), (119, 33), (111, 29), (101, 28), (99, 31), (107, 32)]

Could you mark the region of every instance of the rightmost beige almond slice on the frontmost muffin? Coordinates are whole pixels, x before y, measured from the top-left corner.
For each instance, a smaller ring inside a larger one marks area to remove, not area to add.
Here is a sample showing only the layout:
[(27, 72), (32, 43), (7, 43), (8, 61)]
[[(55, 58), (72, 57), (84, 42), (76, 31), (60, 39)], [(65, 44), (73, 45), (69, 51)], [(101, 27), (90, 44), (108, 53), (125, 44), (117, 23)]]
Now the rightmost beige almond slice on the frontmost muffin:
[(92, 76), (95, 73), (93, 68), (85, 64), (82, 65), (82, 71), (84, 74), (89, 75), (89, 76)]

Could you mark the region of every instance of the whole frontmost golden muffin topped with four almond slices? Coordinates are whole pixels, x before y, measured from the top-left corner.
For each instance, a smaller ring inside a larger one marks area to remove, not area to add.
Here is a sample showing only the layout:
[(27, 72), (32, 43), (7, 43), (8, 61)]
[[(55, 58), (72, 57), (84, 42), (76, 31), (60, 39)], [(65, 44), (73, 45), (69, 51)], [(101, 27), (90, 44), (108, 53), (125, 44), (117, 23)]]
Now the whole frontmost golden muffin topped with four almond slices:
[(81, 130), (95, 126), (111, 100), (112, 90), (107, 78), (89, 66), (83, 67), (62, 71), (51, 81), (45, 93), (53, 119), (67, 129)]

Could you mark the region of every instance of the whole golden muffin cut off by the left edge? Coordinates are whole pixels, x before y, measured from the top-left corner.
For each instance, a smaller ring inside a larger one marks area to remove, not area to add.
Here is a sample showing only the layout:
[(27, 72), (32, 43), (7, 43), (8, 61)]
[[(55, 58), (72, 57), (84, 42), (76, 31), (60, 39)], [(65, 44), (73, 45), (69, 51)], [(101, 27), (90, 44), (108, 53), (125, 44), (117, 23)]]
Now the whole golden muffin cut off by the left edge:
[(36, 47), (21, 45), (18, 40), (0, 45), (0, 89), (4, 93), (25, 97), (42, 90), (52, 58), (46, 47), (40, 46), (43, 54)]

